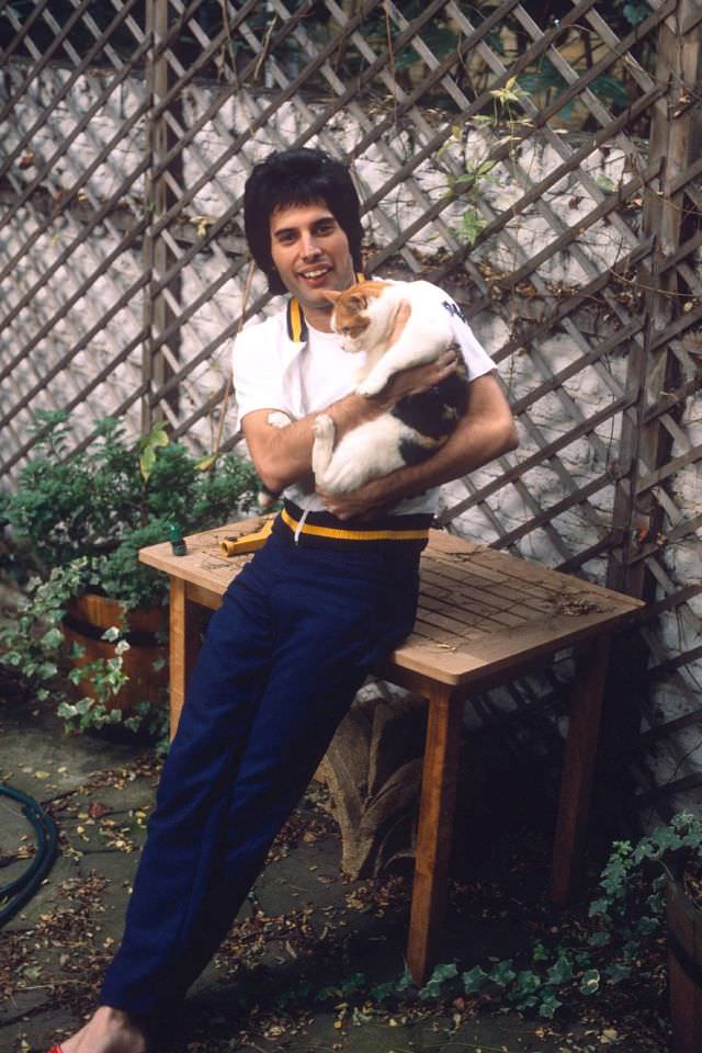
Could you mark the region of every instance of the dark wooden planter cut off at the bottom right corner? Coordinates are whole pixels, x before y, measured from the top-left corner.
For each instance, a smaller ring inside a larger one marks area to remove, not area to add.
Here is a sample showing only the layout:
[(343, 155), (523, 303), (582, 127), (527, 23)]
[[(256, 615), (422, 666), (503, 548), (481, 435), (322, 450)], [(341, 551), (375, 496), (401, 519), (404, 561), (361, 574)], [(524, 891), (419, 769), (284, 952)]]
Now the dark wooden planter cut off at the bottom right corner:
[(673, 1053), (702, 1050), (702, 910), (668, 881), (668, 982)]

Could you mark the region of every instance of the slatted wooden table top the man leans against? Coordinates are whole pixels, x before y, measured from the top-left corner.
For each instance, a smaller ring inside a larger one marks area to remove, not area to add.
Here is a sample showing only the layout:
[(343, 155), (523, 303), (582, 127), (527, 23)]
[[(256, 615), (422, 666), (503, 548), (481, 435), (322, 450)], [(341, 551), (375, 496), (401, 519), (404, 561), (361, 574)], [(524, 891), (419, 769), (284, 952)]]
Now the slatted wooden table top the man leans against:
[[(208, 593), (216, 604), (252, 558), (225, 556), (220, 542), (261, 523), (249, 519), (192, 534), (184, 556), (174, 556), (166, 542), (143, 548), (139, 558)], [(389, 661), (442, 683), (464, 684), (609, 632), (643, 607), (630, 596), (432, 530), (421, 557), (415, 631)]]

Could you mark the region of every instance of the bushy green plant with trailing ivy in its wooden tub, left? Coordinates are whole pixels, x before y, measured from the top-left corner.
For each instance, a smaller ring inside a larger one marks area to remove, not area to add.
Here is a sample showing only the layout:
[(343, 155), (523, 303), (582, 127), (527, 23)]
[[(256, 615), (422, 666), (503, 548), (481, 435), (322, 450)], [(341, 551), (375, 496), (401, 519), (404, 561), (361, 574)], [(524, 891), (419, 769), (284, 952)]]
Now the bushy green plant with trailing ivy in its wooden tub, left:
[(138, 551), (173, 529), (235, 518), (254, 500), (256, 473), (231, 453), (199, 461), (169, 440), (162, 422), (131, 442), (118, 420), (104, 418), (77, 455), (67, 414), (44, 412), (39, 424), (44, 438), (0, 506), (26, 591), (18, 618), (0, 631), (0, 664), (39, 698), (65, 675), (75, 690), (59, 692), (58, 712), (69, 726), (137, 729), (152, 722), (166, 683), (168, 590)]

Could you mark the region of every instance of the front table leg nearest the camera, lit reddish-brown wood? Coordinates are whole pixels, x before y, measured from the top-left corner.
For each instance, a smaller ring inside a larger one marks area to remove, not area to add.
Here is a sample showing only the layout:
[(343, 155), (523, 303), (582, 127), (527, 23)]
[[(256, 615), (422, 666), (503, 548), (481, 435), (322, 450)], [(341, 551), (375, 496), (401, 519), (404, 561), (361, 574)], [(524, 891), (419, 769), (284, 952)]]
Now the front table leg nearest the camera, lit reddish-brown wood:
[(462, 698), (446, 684), (432, 686), (428, 702), (407, 943), (407, 963), (415, 983), (419, 985), (424, 983), (435, 962), (443, 925), (463, 716)]

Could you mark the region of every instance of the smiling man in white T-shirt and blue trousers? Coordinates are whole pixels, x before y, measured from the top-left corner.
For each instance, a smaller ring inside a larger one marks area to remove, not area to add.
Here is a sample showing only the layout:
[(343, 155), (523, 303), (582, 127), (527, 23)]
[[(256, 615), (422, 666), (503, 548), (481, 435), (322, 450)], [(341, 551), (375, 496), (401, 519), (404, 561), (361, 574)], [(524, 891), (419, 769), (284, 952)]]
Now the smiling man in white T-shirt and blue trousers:
[[(234, 351), (244, 434), (285, 508), (211, 620), (102, 1005), (63, 1053), (144, 1053), (163, 1037), (356, 690), (411, 631), (431, 488), (516, 445), (492, 362), (448, 301), (471, 381), (449, 441), (353, 494), (315, 492), (317, 412), (342, 435), (438, 383), (455, 359), (405, 371), (374, 398), (353, 393), (358, 362), (331, 332), (324, 290), (355, 281), (359, 202), (347, 170), (325, 154), (286, 151), (257, 166), (245, 220), (271, 291), (291, 296)], [(291, 423), (273, 427), (273, 411)]]

